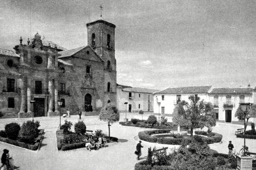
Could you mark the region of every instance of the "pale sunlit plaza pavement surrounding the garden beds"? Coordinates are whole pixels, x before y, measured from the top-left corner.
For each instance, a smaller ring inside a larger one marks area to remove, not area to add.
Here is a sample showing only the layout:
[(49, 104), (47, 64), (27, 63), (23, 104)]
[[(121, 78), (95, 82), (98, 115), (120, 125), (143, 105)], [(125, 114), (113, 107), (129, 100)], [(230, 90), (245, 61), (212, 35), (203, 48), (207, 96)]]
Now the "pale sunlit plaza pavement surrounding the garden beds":
[[(147, 119), (148, 115), (144, 114), (143, 119)], [(141, 118), (138, 113), (127, 113), (129, 120), (132, 118)], [(61, 124), (64, 120), (77, 122), (78, 116), (72, 115), (70, 118), (62, 118)], [(108, 125), (106, 122), (99, 120), (99, 116), (86, 116), (82, 117), (86, 124), (87, 130), (102, 129), (103, 132), (108, 133)], [(120, 114), (120, 121), (125, 118), (125, 113)], [(28, 119), (0, 119), (0, 129), (4, 129), (4, 125), (10, 122), (18, 122), (20, 125), (22, 122), (31, 120)], [(15, 166), (20, 166), (20, 170), (129, 170), (134, 169), (136, 155), (136, 144), (138, 132), (146, 130), (137, 127), (121, 126), (119, 123), (114, 123), (110, 127), (110, 135), (122, 139), (120, 143), (109, 144), (106, 148), (100, 148), (97, 151), (92, 152), (86, 149), (80, 149), (69, 152), (57, 153), (56, 148), (56, 129), (59, 126), (59, 117), (40, 117), (34, 120), (39, 120), (41, 127), (45, 129), (44, 139), (41, 144), (40, 150), (35, 153), (27, 151), (15, 146), (0, 143), (0, 151), (3, 149), (10, 150), (10, 155), (14, 158)], [(169, 118), (168, 120), (171, 120)], [(213, 132), (217, 132), (223, 135), (223, 143), (219, 145), (211, 146), (211, 149), (220, 153), (228, 152), (228, 141), (232, 140), (236, 151), (238, 152), (242, 145), (243, 139), (236, 138), (235, 130), (241, 128), (241, 125), (233, 125), (227, 123), (217, 123), (217, 126), (213, 128)], [(250, 129), (250, 127), (248, 127)], [(249, 147), (250, 152), (256, 152), (255, 146), (256, 140), (246, 139), (246, 145)], [(164, 145), (153, 144), (148, 142), (142, 142), (144, 148), (142, 148), (141, 158), (145, 159), (147, 156), (148, 147), (161, 148)], [(170, 147), (172, 147), (170, 145)], [(170, 148), (169, 147), (169, 148)], [(143, 160), (143, 159), (142, 159)]]

